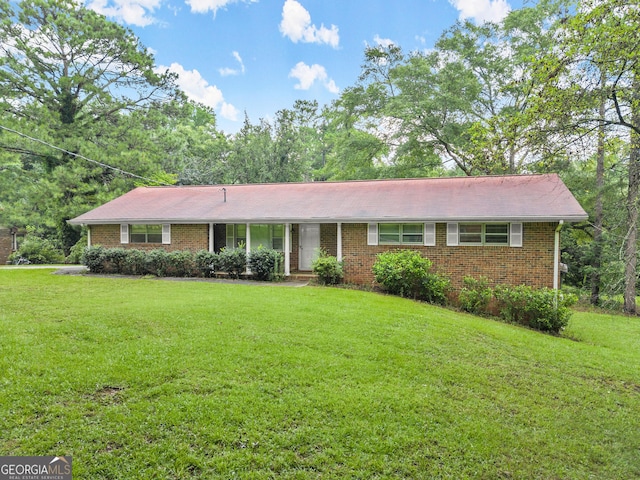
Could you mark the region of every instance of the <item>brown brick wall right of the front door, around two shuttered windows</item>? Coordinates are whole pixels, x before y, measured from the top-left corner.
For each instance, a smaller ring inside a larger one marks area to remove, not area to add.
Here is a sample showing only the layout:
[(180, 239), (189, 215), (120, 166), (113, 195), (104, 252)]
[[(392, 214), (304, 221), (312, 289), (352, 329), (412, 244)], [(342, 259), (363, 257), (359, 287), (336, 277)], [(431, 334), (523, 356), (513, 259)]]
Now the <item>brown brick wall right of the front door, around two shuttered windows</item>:
[(446, 224), (436, 225), (436, 246), (389, 247), (367, 245), (366, 224), (343, 224), (345, 281), (372, 284), (373, 263), (378, 253), (396, 248), (419, 250), (433, 262), (433, 269), (448, 274), (454, 288), (466, 275), (488, 277), (494, 284), (553, 286), (554, 223), (523, 225), (522, 247), (446, 245)]

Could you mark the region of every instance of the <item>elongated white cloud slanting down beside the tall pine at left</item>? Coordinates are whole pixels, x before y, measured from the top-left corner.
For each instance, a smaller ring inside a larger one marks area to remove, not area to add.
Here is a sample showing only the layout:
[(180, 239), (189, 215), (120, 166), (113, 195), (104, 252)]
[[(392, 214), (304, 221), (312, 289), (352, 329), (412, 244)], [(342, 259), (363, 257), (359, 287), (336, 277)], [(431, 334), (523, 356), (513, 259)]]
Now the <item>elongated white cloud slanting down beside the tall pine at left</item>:
[(178, 75), (176, 83), (191, 100), (213, 108), (227, 120), (238, 120), (238, 110), (230, 103), (225, 102), (222, 91), (215, 85), (209, 85), (209, 82), (202, 78), (200, 72), (185, 70), (179, 63), (172, 63), (170, 67), (161, 65), (156, 69), (158, 72), (166, 70)]

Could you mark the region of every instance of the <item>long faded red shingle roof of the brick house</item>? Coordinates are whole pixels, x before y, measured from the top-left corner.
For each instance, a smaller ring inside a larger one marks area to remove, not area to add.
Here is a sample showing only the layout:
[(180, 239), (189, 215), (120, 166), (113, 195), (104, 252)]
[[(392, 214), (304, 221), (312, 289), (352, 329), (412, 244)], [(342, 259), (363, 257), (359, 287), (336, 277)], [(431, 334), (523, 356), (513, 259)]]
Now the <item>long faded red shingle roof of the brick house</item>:
[(562, 180), (550, 174), (140, 187), (70, 223), (572, 222), (586, 218)]

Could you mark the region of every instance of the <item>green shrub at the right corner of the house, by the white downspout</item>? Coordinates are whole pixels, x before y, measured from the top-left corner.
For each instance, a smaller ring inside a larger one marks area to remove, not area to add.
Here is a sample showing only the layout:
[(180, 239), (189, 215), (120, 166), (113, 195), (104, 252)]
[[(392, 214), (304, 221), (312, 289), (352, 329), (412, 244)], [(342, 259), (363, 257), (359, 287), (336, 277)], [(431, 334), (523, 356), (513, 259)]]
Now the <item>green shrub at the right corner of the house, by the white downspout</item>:
[(527, 285), (499, 285), (495, 289), (495, 297), (503, 319), (554, 333), (567, 326), (571, 307), (577, 302), (577, 296), (573, 294), (549, 288), (534, 289)]

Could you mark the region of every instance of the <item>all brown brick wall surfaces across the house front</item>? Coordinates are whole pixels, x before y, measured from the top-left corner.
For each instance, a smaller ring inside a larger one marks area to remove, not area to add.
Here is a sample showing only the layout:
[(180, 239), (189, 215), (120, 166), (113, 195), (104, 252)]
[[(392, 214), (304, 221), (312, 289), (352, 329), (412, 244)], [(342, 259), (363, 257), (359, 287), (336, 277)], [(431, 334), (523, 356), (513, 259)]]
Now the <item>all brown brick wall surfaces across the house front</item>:
[[(344, 262), (345, 282), (360, 285), (373, 283), (372, 267), (379, 253), (391, 249), (405, 248), (417, 250), (433, 262), (433, 269), (446, 273), (454, 287), (461, 287), (466, 275), (478, 278), (485, 276), (493, 283), (534, 287), (553, 287), (554, 261), (553, 238), (557, 223), (525, 223), (523, 225), (522, 247), (511, 246), (447, 246), (446, 224), (436, 223), (436, 241), (434, 246), (421, 245), (368, 245), (366, 223), (342, 224), (342, 260)], [(225, 225), (216, 225), (225, 227)], [(92, 225), (91, 243), (107, 248), (124, 247), (138, 250), (151, 250), (160, 246), (167, 251), (189, 250), (197, 252), (207, 250), (210, 242), (209, 226), (171, 225), (171, 243), (158, 245), (153, 243), (120, 242), (119, 225)], [(220, 237), (224, 228), (214, 228)], [(291, 271), (299, 272), (298, 247), (299, 225), (291, 225)], [(329, 255), (337, 256), (337, 224), (320, 225), (320, 248)], [(224, 238), (224, 237), (223, 237)], [(223, 243), (218, 245), (224, 246)], [(214, 250), (219, 251), (220, 248)]]

